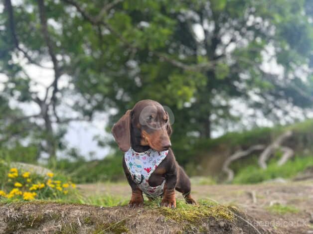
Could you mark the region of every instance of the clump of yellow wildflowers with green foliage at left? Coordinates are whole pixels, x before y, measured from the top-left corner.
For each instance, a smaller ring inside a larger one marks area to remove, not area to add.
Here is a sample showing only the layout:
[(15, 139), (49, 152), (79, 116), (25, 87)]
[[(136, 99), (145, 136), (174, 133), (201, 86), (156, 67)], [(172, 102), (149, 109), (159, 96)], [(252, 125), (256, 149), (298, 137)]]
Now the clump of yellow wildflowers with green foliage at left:
[[(21, 172), (19, 175), (17, 168), (11, 168), (7, 174), (8, 180), (6, 187), (10, 192), (0, 190), (0, 197), (23, 199), (30, 201), (34, 199), (44, 199), (51, 197), (59, 197), (61, 194), (66, 195), (70, 188), (75, 188), (76, 185), (67, 182), (63, 183), (60, 180), (54, 180), (54, 174), (49, 172), (46, 177), (41, 177), (30, 172)], [(42, 181), (43, 180), (43, 181)], [(32, 182), (34, 181), (34, 182)], [(5, 188), (5, 186), (4, 186)]]

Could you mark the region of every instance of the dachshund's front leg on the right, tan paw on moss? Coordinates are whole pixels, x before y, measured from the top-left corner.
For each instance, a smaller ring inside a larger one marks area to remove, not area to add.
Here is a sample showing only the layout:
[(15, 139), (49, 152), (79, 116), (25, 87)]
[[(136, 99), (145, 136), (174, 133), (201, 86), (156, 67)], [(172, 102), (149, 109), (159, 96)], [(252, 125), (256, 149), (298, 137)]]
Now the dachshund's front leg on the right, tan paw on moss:
[(174, 170), (166, 174), (163, 199), (161, 206), (176, 208), (175, 185), (177, 182), (177, 171)]

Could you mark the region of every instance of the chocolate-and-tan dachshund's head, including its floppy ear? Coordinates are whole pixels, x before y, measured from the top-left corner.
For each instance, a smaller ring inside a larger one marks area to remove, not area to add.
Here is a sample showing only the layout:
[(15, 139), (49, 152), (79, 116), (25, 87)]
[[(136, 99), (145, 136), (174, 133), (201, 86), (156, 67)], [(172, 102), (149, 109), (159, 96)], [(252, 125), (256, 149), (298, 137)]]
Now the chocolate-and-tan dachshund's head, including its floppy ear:
[(152, 100), (138, 102), (128, 110), (112, 128), (113, 136), (124, 152), (136, 142), (156, 151), (167, 150), (170, 146), (171, 127), (168, 113)]

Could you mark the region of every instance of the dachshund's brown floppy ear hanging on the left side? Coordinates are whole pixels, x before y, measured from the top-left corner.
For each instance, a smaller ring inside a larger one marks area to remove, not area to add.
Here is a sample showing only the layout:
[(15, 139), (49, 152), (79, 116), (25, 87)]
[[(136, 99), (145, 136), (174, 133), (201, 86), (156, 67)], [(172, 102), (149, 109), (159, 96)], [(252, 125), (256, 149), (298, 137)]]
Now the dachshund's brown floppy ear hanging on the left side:
[(131, 147), (131, 112), (128, 110), (112, 128), (115, 141), (123, 152)]

